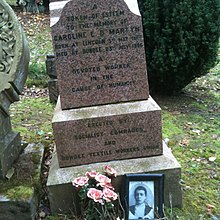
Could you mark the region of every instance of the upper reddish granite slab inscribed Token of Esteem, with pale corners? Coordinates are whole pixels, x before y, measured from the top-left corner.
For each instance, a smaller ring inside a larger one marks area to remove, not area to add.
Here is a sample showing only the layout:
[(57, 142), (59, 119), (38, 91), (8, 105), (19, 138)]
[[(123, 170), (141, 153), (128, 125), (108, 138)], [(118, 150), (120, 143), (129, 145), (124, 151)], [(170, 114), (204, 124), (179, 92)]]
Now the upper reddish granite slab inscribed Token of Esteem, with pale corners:
[(149, 97), (136, 0), (50, 3), (62, 109)]

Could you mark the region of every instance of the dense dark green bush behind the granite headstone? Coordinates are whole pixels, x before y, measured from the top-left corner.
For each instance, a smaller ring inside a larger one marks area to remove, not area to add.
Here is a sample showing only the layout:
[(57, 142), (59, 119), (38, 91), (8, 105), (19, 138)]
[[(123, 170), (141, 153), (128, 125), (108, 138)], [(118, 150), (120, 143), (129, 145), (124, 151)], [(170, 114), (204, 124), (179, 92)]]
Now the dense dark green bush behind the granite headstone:
[(139, 0), (151, 92), (178, 92), (216, 64), (220, 0)]

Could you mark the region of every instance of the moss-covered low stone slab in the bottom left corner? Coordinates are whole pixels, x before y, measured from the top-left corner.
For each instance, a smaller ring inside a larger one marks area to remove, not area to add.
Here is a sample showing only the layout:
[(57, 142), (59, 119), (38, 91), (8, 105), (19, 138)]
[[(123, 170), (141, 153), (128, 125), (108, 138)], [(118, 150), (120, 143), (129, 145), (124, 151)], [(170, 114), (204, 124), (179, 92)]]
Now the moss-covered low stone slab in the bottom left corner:
[(41, 192), (44, 146), (28, 144), (16, 163), (10, 180), (0, 180), (0, 220), (34, 220)]

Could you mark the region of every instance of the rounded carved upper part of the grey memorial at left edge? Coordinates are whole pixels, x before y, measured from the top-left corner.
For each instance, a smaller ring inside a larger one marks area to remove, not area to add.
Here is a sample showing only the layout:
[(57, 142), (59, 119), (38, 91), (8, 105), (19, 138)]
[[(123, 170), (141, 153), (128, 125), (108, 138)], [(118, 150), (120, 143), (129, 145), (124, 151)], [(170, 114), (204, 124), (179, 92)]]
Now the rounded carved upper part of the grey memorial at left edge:
[[(25, 51), (25, 52), (24, 52)], [(29, 62), (29, 50), (21, 25), (11, 7), (0, 2), (0, 93), (13, 89), (22, 92), (27, 70), (21, 65), (24, 59)], [(27, 66), (27, 65), (26, 65)], [(26, 68), (27, 69), (27, 68)]]

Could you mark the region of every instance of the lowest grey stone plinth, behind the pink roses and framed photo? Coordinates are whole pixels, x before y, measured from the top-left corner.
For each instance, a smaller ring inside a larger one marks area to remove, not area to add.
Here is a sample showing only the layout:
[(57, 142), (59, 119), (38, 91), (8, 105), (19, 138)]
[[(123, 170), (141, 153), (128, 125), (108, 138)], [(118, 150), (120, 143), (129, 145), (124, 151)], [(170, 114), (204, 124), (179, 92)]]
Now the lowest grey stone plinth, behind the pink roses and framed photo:
[[(94, 163), (69, 168), (59, 168), (56, 152), (53, 155), (47, 181), (49, 201), (52, 213), (74, 213), (75, 191), (71, 182), (74, 178), (84, 176), (87, 171), (100, 171), (108, 165), (113, 167), (118, 176), (113, 185), (117, 192), (123, 188), (123, 176), (128, 173), (163, 173), (164, 203), (165, 206), (182, 206), (182, 193), (179, 181), (181, 179), (181, 166), (173, 156), (171, 150), (163, 143), (163, 154), (147, 158), (127, 159)], [(172, 201), (170, 201), (172, 198)]]

